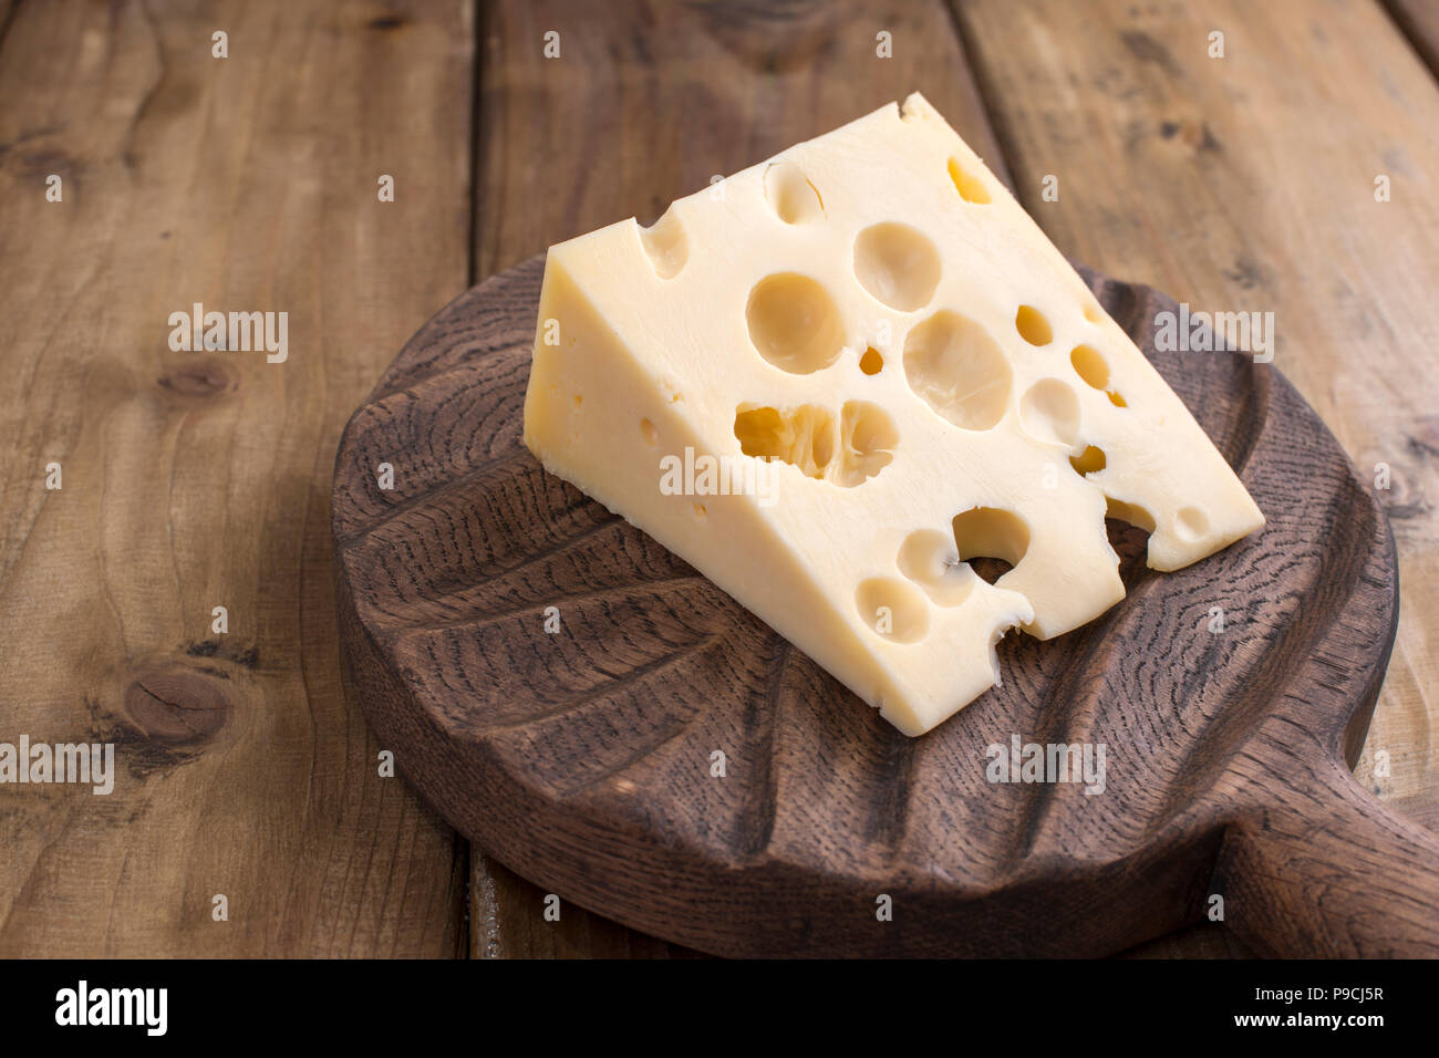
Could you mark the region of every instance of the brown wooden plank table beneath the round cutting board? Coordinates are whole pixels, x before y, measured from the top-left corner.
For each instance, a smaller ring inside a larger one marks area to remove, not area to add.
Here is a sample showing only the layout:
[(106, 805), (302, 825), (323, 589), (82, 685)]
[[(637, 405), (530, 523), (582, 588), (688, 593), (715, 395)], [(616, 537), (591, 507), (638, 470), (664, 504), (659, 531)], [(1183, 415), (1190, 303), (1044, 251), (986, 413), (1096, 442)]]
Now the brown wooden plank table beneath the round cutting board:
[[(1426, 0), (0, 0), (0, 741), (119, 761), (109, 796), (0, 787), (0, 956), (691, 954), (545, 921), (380, 774), (335, 443), (471, 284), (912, 89), (1072, 258), (1272, 311), (1387, 468), (1403, 612), (1360, 776), (1439, 826), (1436, 73)], [(171, 351), (194, 302), (288, 312), (288, 358)]]

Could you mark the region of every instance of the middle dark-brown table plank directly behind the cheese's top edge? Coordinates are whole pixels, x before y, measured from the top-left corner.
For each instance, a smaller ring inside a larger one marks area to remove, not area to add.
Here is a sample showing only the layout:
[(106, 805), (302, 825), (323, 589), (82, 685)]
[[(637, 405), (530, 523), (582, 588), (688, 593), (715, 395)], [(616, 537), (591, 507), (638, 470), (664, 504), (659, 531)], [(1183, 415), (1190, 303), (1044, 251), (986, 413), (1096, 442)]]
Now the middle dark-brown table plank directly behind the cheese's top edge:
[[(876, 53), (882, 32), (892, 58)], [(711, 176), (915, 89), (1004, 173), (938, 0), (486, 3), (481, 36), (476, 279), (602, 225), (649, 223)], [(472, 862), (475, 956), (684, 954), (577, 910), (544, 923), (544, 894), (478, 849)]]

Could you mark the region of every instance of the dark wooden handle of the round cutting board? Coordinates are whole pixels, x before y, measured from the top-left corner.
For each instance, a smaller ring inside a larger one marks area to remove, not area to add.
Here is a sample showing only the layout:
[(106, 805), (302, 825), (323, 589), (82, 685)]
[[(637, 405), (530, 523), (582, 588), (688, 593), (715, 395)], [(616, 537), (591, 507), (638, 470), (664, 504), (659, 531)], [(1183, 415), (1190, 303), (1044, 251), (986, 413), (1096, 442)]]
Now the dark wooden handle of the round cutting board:
[(1439, 957), (1439, 835), (1337, 760), (1315, 779), (1230, 828), (1216, 869), (1226, 924), (1263, 956)]

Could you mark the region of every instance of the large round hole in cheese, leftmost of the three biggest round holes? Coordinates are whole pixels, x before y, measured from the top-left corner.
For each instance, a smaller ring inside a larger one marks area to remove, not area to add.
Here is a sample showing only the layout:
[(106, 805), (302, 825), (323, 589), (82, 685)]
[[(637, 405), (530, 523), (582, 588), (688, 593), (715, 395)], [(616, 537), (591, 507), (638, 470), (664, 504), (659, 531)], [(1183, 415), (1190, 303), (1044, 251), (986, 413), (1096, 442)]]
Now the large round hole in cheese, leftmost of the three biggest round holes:
[(839, 309), (807, 275), (778, 272), (757, 282), (744, 318), (760, 356), (791, 374), (829, 367), (845, 344)]

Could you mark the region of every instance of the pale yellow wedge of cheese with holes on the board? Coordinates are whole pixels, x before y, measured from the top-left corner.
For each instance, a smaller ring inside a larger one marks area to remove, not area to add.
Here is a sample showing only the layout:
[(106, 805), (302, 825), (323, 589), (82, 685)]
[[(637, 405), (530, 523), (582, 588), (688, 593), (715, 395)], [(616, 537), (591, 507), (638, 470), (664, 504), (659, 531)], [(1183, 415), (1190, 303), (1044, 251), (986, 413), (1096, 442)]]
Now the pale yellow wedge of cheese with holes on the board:
[(1158, 570), (1263, 524), (920, 95), (553, 246), (524, 438), (911, 736), (1124, 596), (1107, 512)]

